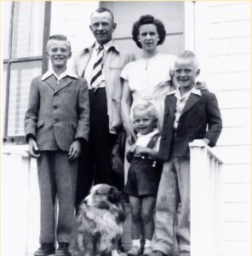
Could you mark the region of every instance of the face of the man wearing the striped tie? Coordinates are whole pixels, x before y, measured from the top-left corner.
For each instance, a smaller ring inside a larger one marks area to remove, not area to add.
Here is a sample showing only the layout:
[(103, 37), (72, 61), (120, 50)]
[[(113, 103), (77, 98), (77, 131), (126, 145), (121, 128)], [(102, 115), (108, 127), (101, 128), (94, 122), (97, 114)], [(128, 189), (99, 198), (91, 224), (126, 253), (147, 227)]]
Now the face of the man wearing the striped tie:
[(112, 40), (112, 33), (117, 25), (112, 20), (112, 15), (109, 12), (97, 13), (91, 15), (90, 30), (94, 34), (98, 44), (106, 44)]

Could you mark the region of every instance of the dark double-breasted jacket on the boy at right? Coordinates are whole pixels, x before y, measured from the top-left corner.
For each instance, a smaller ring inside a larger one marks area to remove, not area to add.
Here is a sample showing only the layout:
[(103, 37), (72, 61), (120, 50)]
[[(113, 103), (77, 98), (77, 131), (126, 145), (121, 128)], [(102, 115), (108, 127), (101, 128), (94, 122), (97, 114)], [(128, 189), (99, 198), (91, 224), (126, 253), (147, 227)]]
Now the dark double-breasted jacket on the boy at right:
[(213, 93), (207, 90), (201, 90), (201, 96), (191, 93), (174, 131), (176, 102), (175, 93), (165, 98), (163, 130), (158, 152), (162, 160), (169, 160), (172, 152), (175, 157), (189, 158), (188, 144), (194, 139), (206, 137), (210, 141), (209, 146), (214, 147), (221, 134), (221, 113)]

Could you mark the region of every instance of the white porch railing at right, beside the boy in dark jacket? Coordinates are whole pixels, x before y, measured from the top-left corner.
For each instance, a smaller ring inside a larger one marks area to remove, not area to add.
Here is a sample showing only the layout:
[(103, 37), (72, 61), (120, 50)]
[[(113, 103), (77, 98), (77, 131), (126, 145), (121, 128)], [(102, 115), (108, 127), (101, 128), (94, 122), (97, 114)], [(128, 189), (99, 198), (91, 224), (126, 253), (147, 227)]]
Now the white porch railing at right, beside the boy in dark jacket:
[(191, 255), (221, 256), (221, 166), (203, 140), (189, 143), (191, 158)]

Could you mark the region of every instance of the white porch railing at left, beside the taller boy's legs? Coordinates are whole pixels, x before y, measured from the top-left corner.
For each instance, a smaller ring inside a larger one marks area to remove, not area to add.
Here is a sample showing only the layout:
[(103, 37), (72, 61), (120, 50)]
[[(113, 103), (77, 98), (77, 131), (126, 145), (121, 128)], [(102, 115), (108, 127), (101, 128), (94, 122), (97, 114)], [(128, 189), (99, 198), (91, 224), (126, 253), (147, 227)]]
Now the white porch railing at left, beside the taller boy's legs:
[(27, 145), (4, 145), (2, 160), (1, 255), (31, 255), (39, 234), (36, 161), (31, 160)]

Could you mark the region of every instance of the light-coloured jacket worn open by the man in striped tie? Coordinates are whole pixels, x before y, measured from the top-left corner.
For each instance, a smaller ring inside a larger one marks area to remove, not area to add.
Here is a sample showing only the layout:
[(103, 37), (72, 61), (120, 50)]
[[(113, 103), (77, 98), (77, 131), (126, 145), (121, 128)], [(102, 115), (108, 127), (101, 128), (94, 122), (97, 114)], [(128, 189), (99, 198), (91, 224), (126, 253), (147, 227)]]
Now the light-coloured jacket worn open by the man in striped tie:
[[(82, 77), (92, 55), (94, 45), (83, 49), (75, 56), (73, 63), (74, 72)], [(109, 116), (109, 130), (116, 134), (123, 125), (121, 117), (121, 97), (123, 83), (120, 78), (123, 67), (130, 61), (135, 61), (135, 56), (123, 52), (116, 44), (112, 44), (103, 57), (103, 70), (106, 84), (107, 112)]]

